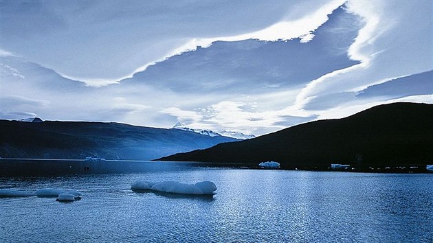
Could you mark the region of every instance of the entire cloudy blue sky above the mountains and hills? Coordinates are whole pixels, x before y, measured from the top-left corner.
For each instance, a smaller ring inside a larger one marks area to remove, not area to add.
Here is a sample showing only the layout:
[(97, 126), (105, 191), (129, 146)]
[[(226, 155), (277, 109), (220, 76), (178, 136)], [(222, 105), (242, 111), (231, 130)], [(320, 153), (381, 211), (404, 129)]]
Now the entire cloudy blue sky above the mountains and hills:
[(0, 119), (263, 135), (433, 103), (433, 2), (0, 0)]

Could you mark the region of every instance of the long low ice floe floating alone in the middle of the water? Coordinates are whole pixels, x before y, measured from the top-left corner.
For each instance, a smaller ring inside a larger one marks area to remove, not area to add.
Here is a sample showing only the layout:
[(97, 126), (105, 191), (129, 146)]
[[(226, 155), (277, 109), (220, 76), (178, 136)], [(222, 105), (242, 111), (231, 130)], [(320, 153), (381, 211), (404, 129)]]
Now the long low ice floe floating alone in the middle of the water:
[(202, 181), (195, 184), (184, 184), (176, 181), (164, 181), (153, 183), (149, 181), (135, 181), (131, 185), (135, 190), (151, 190), (155, 192), (167, 192), (187, 195), (214, 195), (216, 185), (212, 181)]

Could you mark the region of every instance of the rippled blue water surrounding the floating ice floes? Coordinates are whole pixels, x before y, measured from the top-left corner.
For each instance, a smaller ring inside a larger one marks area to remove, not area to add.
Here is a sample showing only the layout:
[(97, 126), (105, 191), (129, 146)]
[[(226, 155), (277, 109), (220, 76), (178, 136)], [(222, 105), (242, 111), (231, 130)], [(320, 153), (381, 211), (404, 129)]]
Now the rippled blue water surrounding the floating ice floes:
[[(137, 194), (131, 183), (210, 180), (213, 198)], [(433, 174), (184, 168), (6, 178), (82, 200), (0, 198), (0, 242), (433, 242)]]

